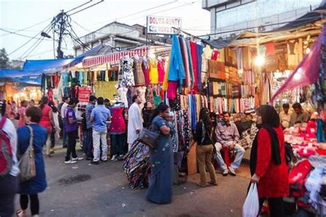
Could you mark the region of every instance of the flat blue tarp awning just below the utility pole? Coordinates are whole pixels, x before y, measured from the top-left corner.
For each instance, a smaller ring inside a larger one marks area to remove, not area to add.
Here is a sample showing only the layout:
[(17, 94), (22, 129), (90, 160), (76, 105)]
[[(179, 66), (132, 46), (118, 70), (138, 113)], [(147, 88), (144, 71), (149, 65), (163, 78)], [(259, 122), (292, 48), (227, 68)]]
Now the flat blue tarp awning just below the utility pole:
[(61, 71), (65, 67), (65, 65), (68, 65), (69, 63), (72, 63), (73, 61), (75, 61), (75, 58), (72, 58), (72, 59), (26, 60), (23, 65), (23, 70), (58, 72), (58, 71)]

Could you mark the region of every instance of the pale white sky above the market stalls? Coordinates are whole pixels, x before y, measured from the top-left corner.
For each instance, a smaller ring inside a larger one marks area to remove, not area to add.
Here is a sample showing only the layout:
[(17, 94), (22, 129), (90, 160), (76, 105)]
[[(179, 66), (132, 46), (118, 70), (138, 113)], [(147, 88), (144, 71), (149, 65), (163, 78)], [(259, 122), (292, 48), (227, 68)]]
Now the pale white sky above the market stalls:
[[(87, 1), (0, 0), (0, 48), (6, 48), (7, 53), (10, 54), (10, 60), (54, 59), (52, 39), (39, 42), (36, 40), (39, 38), (39, 33), (50, 24), (58, 12), (68, 11)], [(98, 1), (100, 0), (93, 0), (87, 6)], [(149, 8), (154, 9), (147, 10)], [(74, 12), (78, 10), (74, 10)], [(202, 9), (202, 0), (105, 0), (92, 8), (72, 15), (71, 18), (74, 31), (78, 37), (82, 37), (112, 21), (129, 25), (135, 23), (145, 25), (146, 16), (149, 14), (181, 17), (182, 29), (195, 35), (210, 32), (210, 12)], [(32, 25), (35, 26), (31, 27)], [(37, 36), (35, 39), (30, 40), (30, 37), (35, 36)], [(72, 46), (72, 41), (67, 38), (63, 43), (65, 55), (74, 54)], [(19, 49), (17, 50), (17, 48)]]

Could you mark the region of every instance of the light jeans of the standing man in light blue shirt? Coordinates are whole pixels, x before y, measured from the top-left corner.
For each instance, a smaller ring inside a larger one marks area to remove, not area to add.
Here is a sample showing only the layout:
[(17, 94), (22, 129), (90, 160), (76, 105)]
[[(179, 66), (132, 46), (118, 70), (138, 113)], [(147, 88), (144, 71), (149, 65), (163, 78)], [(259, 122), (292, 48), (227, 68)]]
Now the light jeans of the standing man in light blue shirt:
[[(94, 158), (93, 161), (100, 161), (100, 147), (102, 149), (102, 161), (107, 161), (107, 130), (97, 132), (93, 130)], [(102, 145), (101, 145), (102, 143)]]

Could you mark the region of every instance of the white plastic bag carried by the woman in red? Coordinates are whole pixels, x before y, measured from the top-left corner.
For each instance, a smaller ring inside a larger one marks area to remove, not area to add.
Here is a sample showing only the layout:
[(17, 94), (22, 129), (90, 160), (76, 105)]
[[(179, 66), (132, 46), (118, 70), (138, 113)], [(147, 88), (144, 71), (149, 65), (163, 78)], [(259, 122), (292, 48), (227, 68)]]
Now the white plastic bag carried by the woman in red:
[(259, 212), (259, 198), (256, 183), (251, 183), (245, 203), (242, 207), (242, 217), (257, 217)]

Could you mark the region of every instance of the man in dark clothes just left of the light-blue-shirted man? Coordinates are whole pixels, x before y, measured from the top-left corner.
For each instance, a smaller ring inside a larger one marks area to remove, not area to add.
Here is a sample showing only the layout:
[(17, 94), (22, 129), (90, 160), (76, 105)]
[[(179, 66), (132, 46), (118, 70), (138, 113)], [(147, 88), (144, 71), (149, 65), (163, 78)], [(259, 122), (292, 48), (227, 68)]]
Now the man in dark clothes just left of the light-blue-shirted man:
[[(86, 160), (92, 161), (93, 156), (93, 130), (92, 130), (92, 123), (91, 123), (91, 111), (94, 110), (96, 105), (97, 98), (96, 96), (89, 96), (89, 103), (86, 105), (85, 108), (85, 121), (86, 121), (86, 130), (84, 134), (86, 134), (85, 138), (86, 141), (84, 152), (86, 154)], [(84, 147), (84, 146), (83, 146)]]

